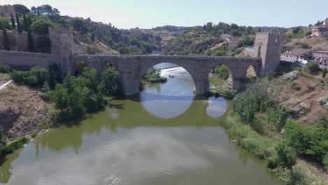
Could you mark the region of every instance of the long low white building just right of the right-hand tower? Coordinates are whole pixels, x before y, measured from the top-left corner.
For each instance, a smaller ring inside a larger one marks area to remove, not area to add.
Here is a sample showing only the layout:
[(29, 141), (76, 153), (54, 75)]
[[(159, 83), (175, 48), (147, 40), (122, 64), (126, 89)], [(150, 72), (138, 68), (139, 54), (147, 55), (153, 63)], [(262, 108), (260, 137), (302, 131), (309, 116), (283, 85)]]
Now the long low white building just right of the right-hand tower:
[(285, 53), (281, 54), (280, 60), (295, 62), (300, 60), (310, 60), (312, 58), (313, 50), (308, 49), (294, 49), (287, 50)]

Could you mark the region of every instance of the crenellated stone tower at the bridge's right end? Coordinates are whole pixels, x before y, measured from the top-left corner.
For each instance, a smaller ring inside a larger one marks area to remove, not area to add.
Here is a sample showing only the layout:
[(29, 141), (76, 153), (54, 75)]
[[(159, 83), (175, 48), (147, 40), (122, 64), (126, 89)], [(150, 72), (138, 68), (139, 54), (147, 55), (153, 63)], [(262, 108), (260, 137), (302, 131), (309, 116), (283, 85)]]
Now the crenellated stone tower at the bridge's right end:
[(277, 69), (280, 62), (285, 32), (259, 32), (255, 38), (253, 57), (261, 57), (259, 76), (265, 76)]

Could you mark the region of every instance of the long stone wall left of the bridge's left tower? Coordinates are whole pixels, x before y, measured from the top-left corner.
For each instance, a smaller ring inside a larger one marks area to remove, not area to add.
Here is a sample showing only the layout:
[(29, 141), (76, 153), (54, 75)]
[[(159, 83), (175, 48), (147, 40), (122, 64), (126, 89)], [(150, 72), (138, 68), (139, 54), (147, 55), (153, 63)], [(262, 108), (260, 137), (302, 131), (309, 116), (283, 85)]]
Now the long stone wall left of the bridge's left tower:
[(36, 66), (48, 68), (49, 64), (60, 64), (59, 61), (58, 55), (0, 50), (0, 63), (19, 70), (28, 70)]

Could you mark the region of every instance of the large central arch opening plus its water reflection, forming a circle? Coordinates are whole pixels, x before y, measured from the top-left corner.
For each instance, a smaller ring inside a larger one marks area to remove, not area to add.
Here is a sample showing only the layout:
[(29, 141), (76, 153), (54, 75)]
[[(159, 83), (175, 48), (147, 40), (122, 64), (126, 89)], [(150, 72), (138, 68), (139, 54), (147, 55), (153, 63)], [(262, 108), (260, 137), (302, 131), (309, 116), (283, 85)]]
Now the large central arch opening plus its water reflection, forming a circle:
[[(196, 89), (189, 71), (174, 63), (160, 63), (148, 69), (143, 76), (140, 81), (142, 90), (136, 96), (150, 114), (168, 119), (189, 109)], [(158, 80), (163, 78), (165, 80)]]

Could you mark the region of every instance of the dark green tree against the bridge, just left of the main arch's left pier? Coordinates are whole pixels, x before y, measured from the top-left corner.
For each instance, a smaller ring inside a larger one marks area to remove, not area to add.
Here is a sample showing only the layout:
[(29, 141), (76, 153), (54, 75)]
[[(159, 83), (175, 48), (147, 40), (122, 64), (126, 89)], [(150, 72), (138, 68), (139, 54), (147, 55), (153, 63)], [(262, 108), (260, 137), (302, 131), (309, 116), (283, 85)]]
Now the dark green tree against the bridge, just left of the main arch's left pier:
[(107, 67), (102, 71), (102, 86), (105, 95), (117, 95), (120, 74), (115, 67)]

